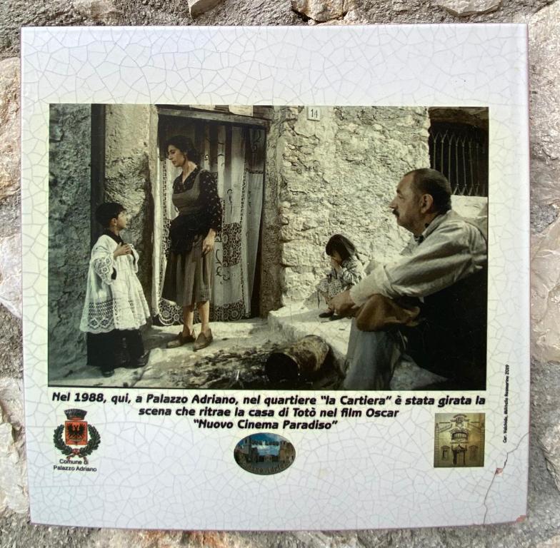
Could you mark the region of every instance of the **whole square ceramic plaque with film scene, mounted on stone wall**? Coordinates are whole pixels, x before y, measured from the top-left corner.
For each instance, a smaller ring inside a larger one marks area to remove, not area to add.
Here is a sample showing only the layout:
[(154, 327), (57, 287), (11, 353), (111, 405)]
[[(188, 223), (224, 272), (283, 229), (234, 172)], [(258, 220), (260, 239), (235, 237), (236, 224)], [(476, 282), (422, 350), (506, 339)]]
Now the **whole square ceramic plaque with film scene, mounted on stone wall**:
[(524, 516), (525, 26), (21, 41), (33, 522)]

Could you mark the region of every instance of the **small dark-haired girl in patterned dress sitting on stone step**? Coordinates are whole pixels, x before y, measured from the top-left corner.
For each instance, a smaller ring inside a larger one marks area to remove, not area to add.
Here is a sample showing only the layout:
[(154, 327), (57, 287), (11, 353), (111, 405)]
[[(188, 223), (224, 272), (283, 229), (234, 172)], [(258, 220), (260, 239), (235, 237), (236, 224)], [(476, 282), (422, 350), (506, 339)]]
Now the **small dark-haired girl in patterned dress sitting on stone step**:
[[(364, 278), (364, 266), (358, 258), (355, 245), (341, 234), (331, 236), (325, 251), (331, 258), (331, 271), (319, 282), (317, 291), (328, 306), (334, 295), (346, 291)], [(327, 308), (319, 314), (319, 318), (336, 320), (339, 316), (335, 316), (334, 310)]]

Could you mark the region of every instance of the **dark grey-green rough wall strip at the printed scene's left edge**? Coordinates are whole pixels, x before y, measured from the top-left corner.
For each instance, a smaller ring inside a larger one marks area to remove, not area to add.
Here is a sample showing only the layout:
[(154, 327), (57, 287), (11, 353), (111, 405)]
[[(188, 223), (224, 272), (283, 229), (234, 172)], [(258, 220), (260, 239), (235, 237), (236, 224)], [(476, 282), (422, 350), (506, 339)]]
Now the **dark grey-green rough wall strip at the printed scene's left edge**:
[(52, 373), (84, 359), (86, 352), (79, 323), (91, 249), (91, 106), (52, 105), (49, 141), (49, 370)]

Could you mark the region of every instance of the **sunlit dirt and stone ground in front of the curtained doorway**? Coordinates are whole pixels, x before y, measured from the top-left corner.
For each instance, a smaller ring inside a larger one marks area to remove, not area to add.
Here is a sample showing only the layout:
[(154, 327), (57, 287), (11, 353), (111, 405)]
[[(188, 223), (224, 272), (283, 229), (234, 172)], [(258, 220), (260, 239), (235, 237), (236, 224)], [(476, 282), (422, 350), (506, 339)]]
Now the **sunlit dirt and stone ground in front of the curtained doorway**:
[[(211, 328), (214, 342), (194, 352), (192, 345), (166, 348), (179, 327), (152, 326), (143, 333), (150, 352), (144, 367), (119, 367), (114, 376), (105, 378), (84, 359), (64, 376), (49, 379), (49, 385), (214, 390), (338, 390), (341, 386), (350, 333), (348, 319), (331, 322), (319, 318), (319, 310), (294, 305), (274, 311), (268, 320), (215, 322)], [(271, 382), (265, 372), (271, 353), (306, 335), (317, 335), (331, 347), (319, 374), (311, 379)], [(413, 390), (440, 378), (405, 359), (396, 367), (391, 390)]]

